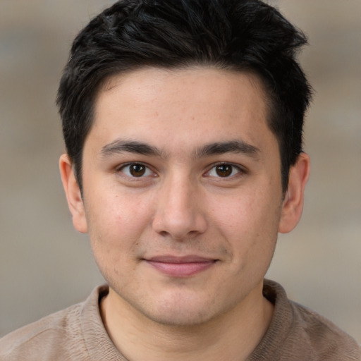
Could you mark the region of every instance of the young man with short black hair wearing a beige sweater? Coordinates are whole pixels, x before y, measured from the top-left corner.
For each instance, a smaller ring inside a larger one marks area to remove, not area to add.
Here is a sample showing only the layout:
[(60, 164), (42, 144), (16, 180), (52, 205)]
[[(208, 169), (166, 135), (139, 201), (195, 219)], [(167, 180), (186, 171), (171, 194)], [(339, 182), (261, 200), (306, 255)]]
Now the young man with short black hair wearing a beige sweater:
[(61, 178), (108, 286), (0, 360), (360, 360), (264, 281), (302, 213), (305, 44), (258, 0), (122, 0), (75, 39)]

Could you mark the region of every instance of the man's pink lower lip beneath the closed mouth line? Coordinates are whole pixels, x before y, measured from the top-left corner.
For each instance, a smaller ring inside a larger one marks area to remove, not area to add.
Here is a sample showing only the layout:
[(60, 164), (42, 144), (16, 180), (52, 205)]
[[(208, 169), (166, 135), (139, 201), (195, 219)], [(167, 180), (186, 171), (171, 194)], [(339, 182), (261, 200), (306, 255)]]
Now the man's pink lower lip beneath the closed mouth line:
[(187, 277), (200, 273), (212, 267), (216, 261), (190, 262), (190, 263), (167, 263), (147, 261), (152, 267), (161, 273), (172, 277)]

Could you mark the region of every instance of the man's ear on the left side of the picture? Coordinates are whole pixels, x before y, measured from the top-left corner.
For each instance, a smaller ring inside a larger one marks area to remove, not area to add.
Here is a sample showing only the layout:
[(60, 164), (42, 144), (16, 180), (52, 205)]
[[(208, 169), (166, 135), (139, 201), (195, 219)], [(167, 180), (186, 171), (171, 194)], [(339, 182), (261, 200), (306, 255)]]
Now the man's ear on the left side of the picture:
[(59, 159), (61, 181), (68, 200), (68, 207), (73, 216), (73, 225), (81, 233), (87, 233), (87, 219), (85, 217), (84, 202), (78, 182), (75, 178), (73, 164), (68, 154), (62, 154)]

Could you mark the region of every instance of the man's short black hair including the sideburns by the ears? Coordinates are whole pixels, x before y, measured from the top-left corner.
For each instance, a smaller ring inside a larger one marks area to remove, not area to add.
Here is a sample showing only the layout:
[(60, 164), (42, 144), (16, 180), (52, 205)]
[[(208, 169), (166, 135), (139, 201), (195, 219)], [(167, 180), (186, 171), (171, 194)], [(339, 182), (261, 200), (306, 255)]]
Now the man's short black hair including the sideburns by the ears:
[(145, 66), (212, 66), (256, 74), (279, 142), (283, 192), (302, 152), (311, 87), (296, 55), (307, 38), (260, 0), (121, 0), (73, 42), (56, 99), (63, 137), (82, 190), (82, 148), (94, 102), (112, 75)]

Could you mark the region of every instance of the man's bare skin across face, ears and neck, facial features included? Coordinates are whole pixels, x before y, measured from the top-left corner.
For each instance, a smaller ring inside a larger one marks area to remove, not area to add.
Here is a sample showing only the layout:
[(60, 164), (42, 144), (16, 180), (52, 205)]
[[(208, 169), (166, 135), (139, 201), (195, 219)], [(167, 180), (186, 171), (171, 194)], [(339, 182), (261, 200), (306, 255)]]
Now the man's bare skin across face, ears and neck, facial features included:
[(97, 97), (82, 195), (61, 157), (73, 224), (110, 286), (104, 324), (130, 360), (243, 360), (267, 330), (264, 275), (300, 219), (310, 159), (283, 195), (264, 97), (245, 73), (119, 75)]

